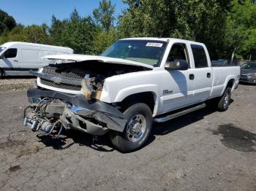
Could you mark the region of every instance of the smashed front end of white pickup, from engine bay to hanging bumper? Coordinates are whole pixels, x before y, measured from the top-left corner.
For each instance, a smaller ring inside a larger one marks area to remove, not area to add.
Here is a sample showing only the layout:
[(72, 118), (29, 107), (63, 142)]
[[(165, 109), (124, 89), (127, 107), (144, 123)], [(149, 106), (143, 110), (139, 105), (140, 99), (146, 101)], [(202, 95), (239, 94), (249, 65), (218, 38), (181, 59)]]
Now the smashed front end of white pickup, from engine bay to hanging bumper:
[(127, 122), (124, 114), (113, 104), (99, 101), (105, 79), (145, 70), (148, 68), (143, 66), (68, 61), (31, 71), (38, 87), (28, 90), (31, 106), (24, 112), (24, 125), (46, 135), (53, 130), (60, 133), (62, 128), (93, 135), (103, 135), (108, 130), (123, 132)]

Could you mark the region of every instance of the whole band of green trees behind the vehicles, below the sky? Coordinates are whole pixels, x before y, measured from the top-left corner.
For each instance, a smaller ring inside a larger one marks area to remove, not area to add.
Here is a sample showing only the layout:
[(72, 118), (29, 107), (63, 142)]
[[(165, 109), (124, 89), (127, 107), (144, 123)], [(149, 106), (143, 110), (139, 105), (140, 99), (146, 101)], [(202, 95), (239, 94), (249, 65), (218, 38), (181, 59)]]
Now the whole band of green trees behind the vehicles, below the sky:
[[(162, 36), (203, 42), (211, 59), (256, 59), (256, 4), (252, 0), (124, 0), (128, 8), (114, 26), (115, 5), (102, 0), (93, 17), (75, 9), (50, 26), (16, 25), (0, 10), (0, 43), (36, 42), (71, 47), (75, 53), (100, 54), (117, 39)], [(254, 58), (255, 57), (255, 58)]]

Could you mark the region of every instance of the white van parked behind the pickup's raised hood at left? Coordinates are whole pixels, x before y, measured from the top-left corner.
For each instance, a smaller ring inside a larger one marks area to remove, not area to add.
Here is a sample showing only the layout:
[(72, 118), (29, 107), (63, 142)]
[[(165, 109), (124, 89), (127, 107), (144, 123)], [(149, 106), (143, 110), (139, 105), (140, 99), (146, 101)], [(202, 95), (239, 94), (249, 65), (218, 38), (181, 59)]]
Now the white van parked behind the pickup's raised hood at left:
[(69, 47), (56, 47), (27, 42), (7, 42), (0, 46), (0, 78), (3, 76), (29, 75), (29, 70), (37, 70), (48, 65), (42, 61), (45, 55), (73, 54)]

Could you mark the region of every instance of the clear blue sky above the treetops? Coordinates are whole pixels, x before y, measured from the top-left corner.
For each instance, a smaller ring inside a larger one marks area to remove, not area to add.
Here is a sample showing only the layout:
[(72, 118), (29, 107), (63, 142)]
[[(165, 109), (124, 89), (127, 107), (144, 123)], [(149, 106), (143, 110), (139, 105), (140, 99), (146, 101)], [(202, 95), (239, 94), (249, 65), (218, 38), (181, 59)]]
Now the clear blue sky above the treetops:
[[(116, 4), (115, 16), (127, 7), (121, 0), (111, 1)], [(74, 9), (78, 10), (80, 16), (89, 16), (97, 7), (99, 0), (0, 0), (0, 9), (24, 26), (42, 23), (50, 25), (52, 15), (62, 20), (69, 17)]]

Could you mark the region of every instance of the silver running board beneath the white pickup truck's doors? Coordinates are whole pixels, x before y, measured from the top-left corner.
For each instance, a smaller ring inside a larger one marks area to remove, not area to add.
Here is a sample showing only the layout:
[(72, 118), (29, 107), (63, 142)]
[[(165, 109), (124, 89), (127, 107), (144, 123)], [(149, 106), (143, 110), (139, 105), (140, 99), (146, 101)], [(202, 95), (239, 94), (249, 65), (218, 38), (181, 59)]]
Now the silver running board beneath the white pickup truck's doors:
[(173, 120), (176, 117), (180, 117), (181, 115), (188, 114), (190, 112), (194, 112), (194, 111), (196, 111), (198, 109), (202, 109), (204, 107), (206, 107), (205, 103), (197, 105), (197, 106), (194, 106), (194, 107), (189, 108), (189, 109), (185, 109), (185, 110), (183, 110), (181, 112), (177, 112), (177, 113), (174, 113), (174, 114), (167, 115), (165, 117), (154, 118), (154, 122), (166, 122), (168, 120)]

